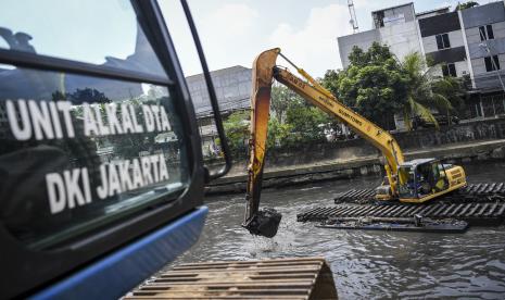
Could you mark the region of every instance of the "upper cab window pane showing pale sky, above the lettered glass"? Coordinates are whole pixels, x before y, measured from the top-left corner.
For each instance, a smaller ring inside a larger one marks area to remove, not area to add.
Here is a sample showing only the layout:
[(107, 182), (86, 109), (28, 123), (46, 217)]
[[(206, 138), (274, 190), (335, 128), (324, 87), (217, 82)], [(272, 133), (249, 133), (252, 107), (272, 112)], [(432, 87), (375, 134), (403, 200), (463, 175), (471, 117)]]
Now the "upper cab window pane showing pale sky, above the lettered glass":
[(166, 77), (128, 0), (2, 0), (0, 48)]

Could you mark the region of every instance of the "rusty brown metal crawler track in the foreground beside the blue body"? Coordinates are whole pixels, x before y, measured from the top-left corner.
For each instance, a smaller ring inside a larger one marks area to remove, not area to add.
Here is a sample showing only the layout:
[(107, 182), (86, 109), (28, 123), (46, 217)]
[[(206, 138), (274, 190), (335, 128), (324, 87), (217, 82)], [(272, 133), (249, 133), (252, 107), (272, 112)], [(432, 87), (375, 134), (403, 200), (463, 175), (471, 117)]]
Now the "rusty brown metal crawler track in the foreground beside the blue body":
[(124, 299), (338, 299), (324, 258), (189, 263)]

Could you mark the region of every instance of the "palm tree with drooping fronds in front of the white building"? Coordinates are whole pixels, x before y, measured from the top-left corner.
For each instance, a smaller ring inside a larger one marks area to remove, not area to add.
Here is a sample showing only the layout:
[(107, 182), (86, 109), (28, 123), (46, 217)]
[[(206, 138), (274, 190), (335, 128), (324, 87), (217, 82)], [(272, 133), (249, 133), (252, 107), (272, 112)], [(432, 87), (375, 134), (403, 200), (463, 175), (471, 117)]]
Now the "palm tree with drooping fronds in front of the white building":
[(456, 92), (460, 90), (459, 82), (452, 77), (433, 77), (433, 66), (426, 67), (425, 60), (417, 52), (406, 55), (401, 67), (406, 80), (403, 117), (407, 128), (412, 129), (414, 116), (433, 123), (439, 128), (432, 110), (449, 114), (454, 110), (453, 103), (459, 104), (459, 95)]

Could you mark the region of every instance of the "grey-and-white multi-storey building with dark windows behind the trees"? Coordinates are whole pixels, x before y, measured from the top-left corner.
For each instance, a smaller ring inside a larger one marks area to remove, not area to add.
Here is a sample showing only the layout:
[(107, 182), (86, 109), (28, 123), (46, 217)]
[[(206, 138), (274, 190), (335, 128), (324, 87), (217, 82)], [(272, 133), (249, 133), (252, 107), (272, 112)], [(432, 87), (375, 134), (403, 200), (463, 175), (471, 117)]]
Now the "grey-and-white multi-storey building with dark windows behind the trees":
[(427, 59), (434, 76), (460, 77), (469, 89), (466, 118), (505, 115), (505, 5), (491, 2), (462, 11), (449, 7), (416, 13), (413, 3), (371, 12), (373, 29), (338, 38), (343, 67), (354, 46), (390, 47), (400, 61)]

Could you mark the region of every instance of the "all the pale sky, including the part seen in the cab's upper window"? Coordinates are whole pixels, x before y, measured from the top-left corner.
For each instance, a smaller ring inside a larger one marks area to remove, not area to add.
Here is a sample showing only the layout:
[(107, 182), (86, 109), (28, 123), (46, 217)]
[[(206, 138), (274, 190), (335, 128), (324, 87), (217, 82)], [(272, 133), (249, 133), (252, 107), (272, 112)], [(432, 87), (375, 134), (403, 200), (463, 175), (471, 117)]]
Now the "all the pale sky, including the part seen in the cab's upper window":
[[(0, 10), (0, 27), (29, 34), (38, 53), (101, 64), (106, 57), (125, 59), (135, 52), (137, 24), (129, 0), (87, 0), (87, 5), (75, 0), (1, 1), (9, 10)], [(352, 34), (348, 0), (187, 1), (211, 70), (251, 67), (262, 51), (280, 47), (291, 61), (321, 77), (342, 65), (337, 37)], [(354, 0), (359, 29), (371, 28), (371, 11), (407, 2)], [(180, 2), (159, 3), (185, 75), (201, 73)], [(457, 0), (415, 0), (414, 4), (421, 12), (454, 7)], [(0, 48), (9, 48), (2, 38)]]

